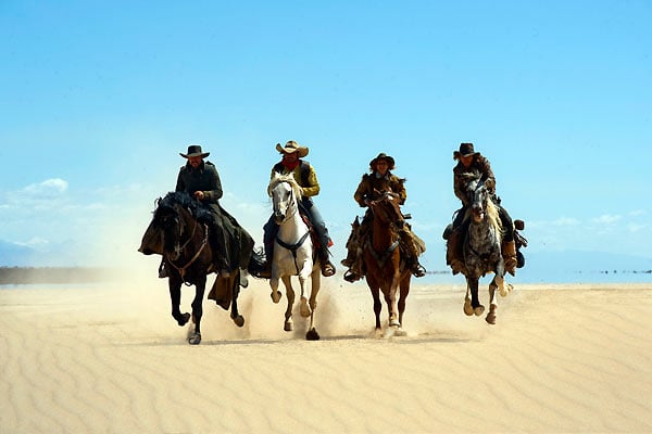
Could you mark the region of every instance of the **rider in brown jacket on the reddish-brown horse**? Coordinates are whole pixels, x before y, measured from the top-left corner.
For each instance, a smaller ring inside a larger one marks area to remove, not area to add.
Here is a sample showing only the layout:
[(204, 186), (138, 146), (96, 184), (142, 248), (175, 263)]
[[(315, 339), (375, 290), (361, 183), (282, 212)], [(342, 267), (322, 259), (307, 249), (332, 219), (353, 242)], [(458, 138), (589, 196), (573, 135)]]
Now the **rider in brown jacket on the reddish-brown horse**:
[[(408, 193), (405, 192), (404, 178), (399, 178), (390, 170), (394, 168), (394, 159), (385, 153), (378, 154), (369, 162), (371, 174), (362, 176), (362, 181), (358, 186), (353, 199), (362, 207), (368, 207), (371, 201), (377, 200), (384, 192), (391, 191), (399, 197), (399, 204), (403, 205)], [(347, 243), (348, 255), (341, 263), (349, 267), (344, 273), (344, 279), (349, 282), (355, 282), (362, 279), (362, 252), (363, 243), (366, 240), (371, 228), (373, 214), (367, 209), (361, 225), (353, 225), (353, 230)], [(355, 219), (358, 221), (358, 218)], [(425, 245), (412, 232), (410, 225), (404, 224), (400, 230), (402, 251), (408, 253), (408, 264), (412, 273), (417, 278), (426, 275), (425, 268), (418, 263), (418, 255), (425, 251)], [(417, 241), (418, 240), (418, 241)], [(417, 245), (418, 243), (418, 245)]]

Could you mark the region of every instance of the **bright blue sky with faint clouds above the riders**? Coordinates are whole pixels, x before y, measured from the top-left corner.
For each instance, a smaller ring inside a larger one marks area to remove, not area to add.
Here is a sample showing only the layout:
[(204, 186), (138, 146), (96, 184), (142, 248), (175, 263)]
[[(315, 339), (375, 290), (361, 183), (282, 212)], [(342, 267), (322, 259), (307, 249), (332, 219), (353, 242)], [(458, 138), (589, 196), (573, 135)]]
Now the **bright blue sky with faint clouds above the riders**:
[[(0, 242), (39, 264), (141, 260), (201, 143), (262, 243), (277, 142), (310, 148), (343, 257), (378, 152), (444, 268), (472, 141), (527, 252), (652, 258), (650, 1), (0, 1)], [(48, 258), (47, 260), (43, 257)]]

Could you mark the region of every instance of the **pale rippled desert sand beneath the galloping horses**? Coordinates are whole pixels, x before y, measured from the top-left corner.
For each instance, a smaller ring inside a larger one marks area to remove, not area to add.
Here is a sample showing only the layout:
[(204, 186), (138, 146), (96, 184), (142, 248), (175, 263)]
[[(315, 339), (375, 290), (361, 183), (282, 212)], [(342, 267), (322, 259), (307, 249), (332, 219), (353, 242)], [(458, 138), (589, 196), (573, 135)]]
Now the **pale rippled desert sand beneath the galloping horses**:
[(652, 284), (513, 283), (489, 326), (462, 279), (413, 281), (408, 336), (376, 339), (338, 276), (308, 342), (253, 280), (241, 329), (204, 301), (199, 346), (155, 277), (0, 290), (0, 433), (652, 432)]

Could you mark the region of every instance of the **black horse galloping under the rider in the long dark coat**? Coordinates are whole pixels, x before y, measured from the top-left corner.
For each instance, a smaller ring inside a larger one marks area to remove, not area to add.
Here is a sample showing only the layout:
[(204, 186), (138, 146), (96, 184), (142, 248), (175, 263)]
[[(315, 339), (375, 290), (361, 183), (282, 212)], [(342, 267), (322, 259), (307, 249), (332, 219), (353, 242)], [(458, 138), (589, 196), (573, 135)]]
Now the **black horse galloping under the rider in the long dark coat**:
[[(156, 201), (154, 216), (138, 248), (145, 255), (160, 254), (163, 256), (163, 266), (168, 277), (172, 316), (181, 327), (192, 319), (195, 331), (188, 339), (192, 345), (201, 342), (200, 323), (206, 276), (217, 271), (214, 265), (216, 252), (209, 243), (212, 221), (213, 216), (209, 208), (193, 200), (188, 193), (171, 192)], [(237, 226), (235, 219), (233, 222)], [(244, 245), (250, 245), (249, 248), (243, 248), (241, 252), (244, 256), (246, 267), (260, 266), (261, 258), (253, 257), (251, 237), (239, 226), (230, 229), (231, 232), (234, 229), (236, 230), (238, 239), (244, 239)], [(249, 240), (251, 241), (249, 242)], [(242, 279), (242, 282), (240, 282), (240, 268), (238, 267), (229, 276), (217, 276), (209, 294), (209, 298), (214, 299), (224, 309), (228, 309), (230, 305), (230, 318), (238, 327), (244, 324), (244, 318), (239, 314), (237, 303), (240, 285), (246, 286), (246, 278)], [(195, 299), (191, 304), (192, 316), (180, 311), (181, 284), (195, 285)]]

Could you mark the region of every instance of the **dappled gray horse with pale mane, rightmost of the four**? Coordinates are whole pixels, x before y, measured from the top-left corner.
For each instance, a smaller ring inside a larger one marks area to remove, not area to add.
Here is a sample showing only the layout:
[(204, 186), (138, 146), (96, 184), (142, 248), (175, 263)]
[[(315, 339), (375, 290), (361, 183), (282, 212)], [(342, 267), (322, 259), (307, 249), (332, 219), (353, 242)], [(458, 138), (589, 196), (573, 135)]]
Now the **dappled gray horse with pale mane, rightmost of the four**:
[[(487, 322), (496, 323), (496, 310), (498, 303), (496, 290), (500, 290), (501, 296), (507, 295), (512, 290), (511, 284), (504, 283), (505, 267), (501, 254), (501, 241), (503, 234), (502, 224), (498, 214), (498, 206), (493, 203), (485, 182), (480, 176), (473, 175), (467, 184), (468, 197), (472, 206), (467, 210), (468, 230), (464, 239), (464, 263), (466, 265), (466, 296), (464, 301), (464, 312), (468, 316), (480, 316), (485, 306), (478, 297), (478, 282), (488, 272), (496, 276), (489, 283), (489, 314)], [(471, 294), (471, 298), (469, 298)]]

